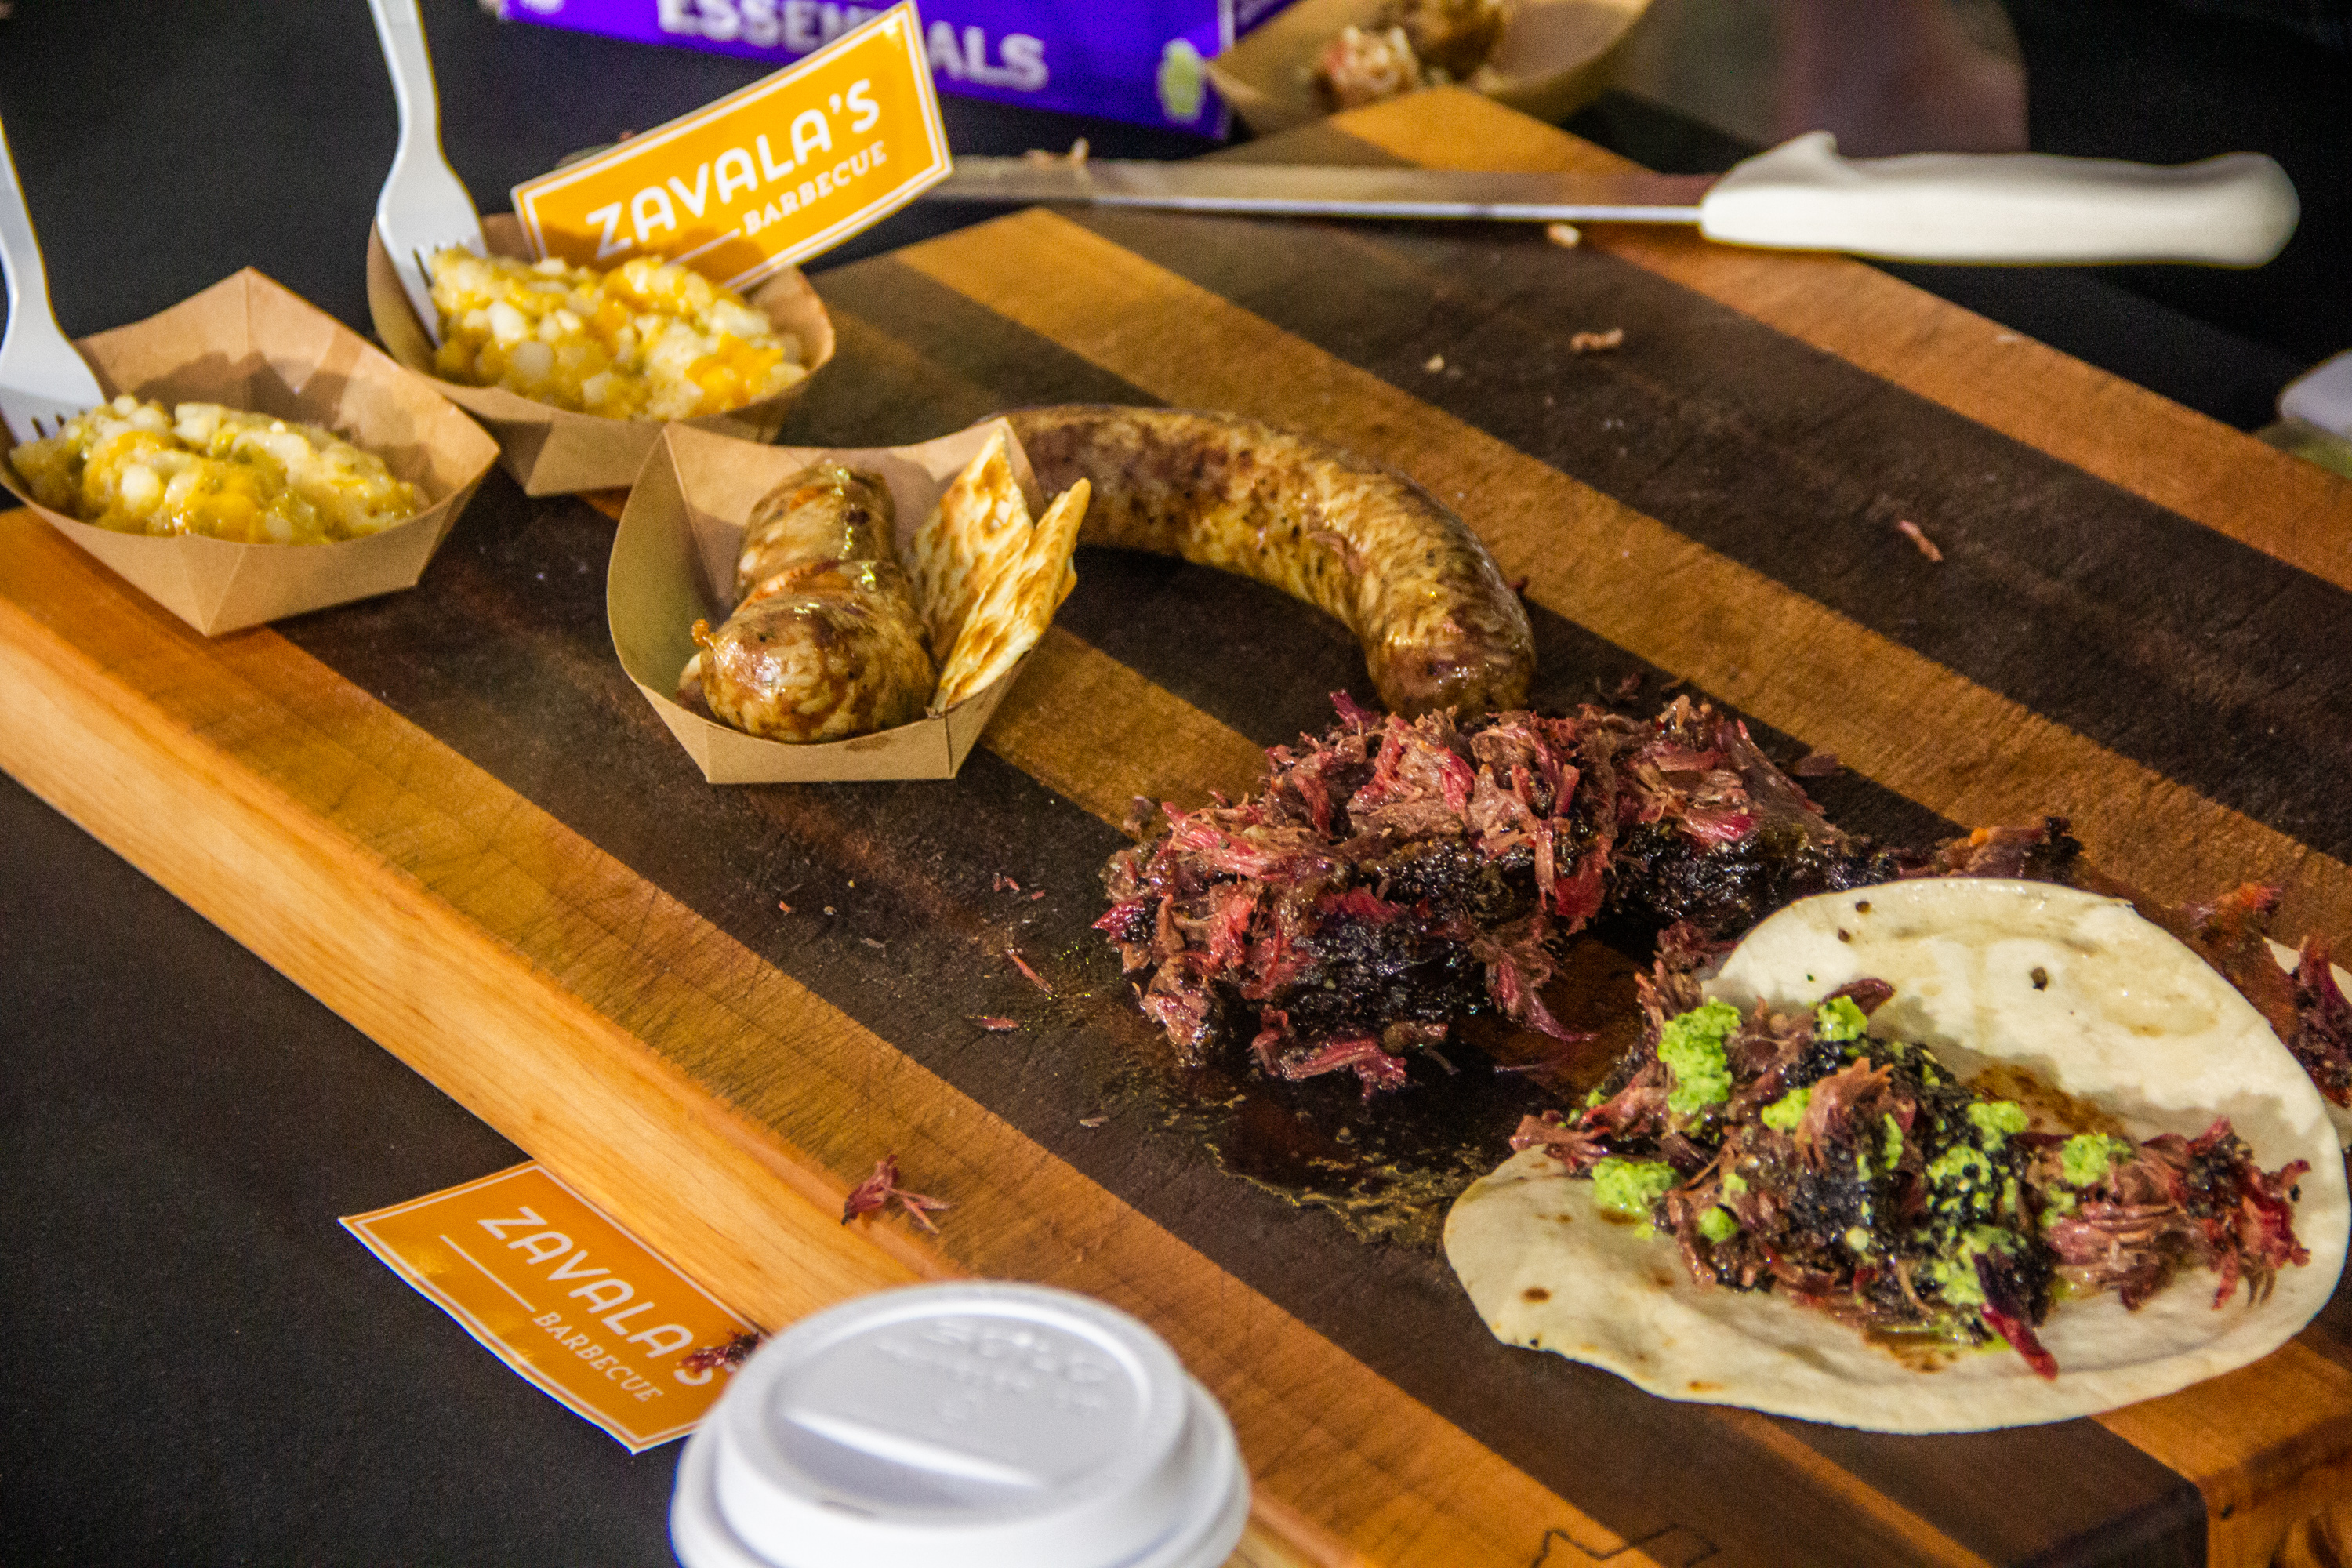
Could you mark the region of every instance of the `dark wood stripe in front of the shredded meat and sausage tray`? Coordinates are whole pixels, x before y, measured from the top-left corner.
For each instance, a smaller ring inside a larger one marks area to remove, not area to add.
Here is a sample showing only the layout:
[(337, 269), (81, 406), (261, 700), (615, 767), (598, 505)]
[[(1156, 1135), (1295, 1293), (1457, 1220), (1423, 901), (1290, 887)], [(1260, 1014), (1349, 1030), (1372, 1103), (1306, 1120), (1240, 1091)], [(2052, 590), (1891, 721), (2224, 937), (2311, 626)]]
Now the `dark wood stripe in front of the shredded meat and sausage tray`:
[[(581, 567), (600, 559), (607, 536), (609, 524), (586, 508), (524, 508), (501, 489), (459, 524), (423, 590), (308, 618), (289, 632), (811, 994), (1437, 1408), (1484, 1450), (1503, 1453), (1498, 1439), (1508, 1441), (1505, 1460), (1571, 1497), (1606, 1535), (1642, 1540), (1679, 1526), (1717, 1544), (1726, 1561), (1762, 1561), (1752, 1554), (1764, 1552), (1764, 1542), (1748, 1535), (1757, 1521), (1729, 1500), (1773, 1495), (1780, 1521), (1811, 1521), (1825, 1540), (1837, 1537), (1837, 1552), (1851, 1554), (1842, 1561), (1952, 1561), (1955, 1549), (1839, 1523), (1851, 1500), (1823, 1483), (1835, 1469), (1792, 1472), (1703, 1408), (1651, 1401), (1590, 1368), (1496, 1345), (1425, 1241), (1367, 1246), (1348, 1225), (1348, 1201), (1301, 1211), (1251, 1180), (1235, 1180), (1237, 1171), (1254, 1168), (1249, 1126), (1268, 1114), (1289, 1121), (1305, 1112), (1324, 1128), (1350, 1126), (1367, 1164), (1381, 1164), (1392, 1140), (1435, 1138), (1439, 1128), (1456, 1150), (1439, 1171), (1446, 1180), (1428, 1187), (1423, 1218), (1435, 1225), (1444, 1197), (1489, 1166), (1501, 1133), (1538, 1103), (1536, 1086), (1482, 1074), (1432, 1077), (1416, 1095), (1364, 1112), (1345, 1084), (1232, 1084), (1223, 1091), (1235, 1095), (1223, 1119), (1195, 1110), (1167, 1126), (1152, 1067), (1164, 1044), (1129, 1001), (1108, 947), (1087, 929), (1101, 907), (1096, 867), (1117, 844), (1098, 820), (985, 752), (967, 762), (953, 790), (922, 783), (701, 785), (604, 649), (590, 609), (595, 574)], [(447, 628), (437, 658), (419, 668), (402, 649), (435, 628)], [(1033, 675), (1056, 677), (1073, 665), (1080, 675), (1098, 670), (1056, 639)], [(1058, 762), (1042, 762), (1040, 771), (1077, 773), (1075, 783), (1065, 780), (1073, 795), (1108, 816), (1134, 788), (1131, 762), (1120, 752), (1115, 724), (1122, 719), (1089, 708), (1087, 696), (1040, 703), (1035, 722), (1061, 748)], [(1143, 693), (1127, 677), (1112, 696)], [(1028, 693), (1014, 698), (1016, 724), (993, 731), (990, 745), (1014, 750), (1033, 722), (1018, 708), (1023, 701)], [(1185, 748), (1202, 733), (1202, 719), (1183, 719), (1176, 708), (1174, 698), (1157, 698), (1160, 715), (1171, 722), (1152, 726), (1160, 745), (1148, 755), (1188, 762), (1167, 748)], [(532, 724), (515, 724), (517, 710), (532, 712)], [(576, 766), (581, 755), (604, 766), (583, 771)], [(1240, 762), (1240, 748), (1223, 755)], [(1098, 783), (1105, 773), (1108, 785)], [(1200, 799), (1209, 783), (1214, 778), (1202, 773), (1178, 773), (1171, 792)], [(995, 891), (997, 875), (1016, 877), (1023, 893)], [(1035, 889), (1047, 898), (1028, 903)], [(776, 910), (779, 898), (793, 914)], [(1040, 997), (1004, 961), (1007, 947), (1018, 947), (1058, 994)], [(985, 1034), (969, 1023), (976, 1013), (1014, 1016), (1025, 1027), (1011, 1037)], [(821, 1032), (811, 1034), (811, 1044), (821, 1041)], [(699, 1056), (691, 1072), (774, 1126), (760, 1110), (771, 1086), (731, 1077), (741, 1074), (741, 1065), (731, 1065), (739, 1056)], [(1040, 1072), (1040, 1063), (1054, 1067)], [(844, 1135), (866, 1126), (858, 1121), (866, 1112), (856, 1107)], [(1112, 1114), (1108, 1128), (1080, 1124), (1105, 1112)], [(908, 1133), (901, 1154), (931, 1147), (934, 1138), (955, 1143), (953, 1128), (924, 1126)], [(1202, 1140), (1218, 1143), (1228, 1164), (1211, 1164)], [(830, 1143), (816, 1147), (833, 1168), (856, 1164)], [(1345, 1154), (1341, 1145), (1324, 1150)], [(1543, 1436), (1552, 1429), (1548, 1413), (1564, 1401), (1616, 1434), (1606, 1450), (1564, 1448)], [(1691, 1462), (1724, 1479), (1724, 1490), (1663, 1497), (1653, 1476)], [(2105, 1516), (2119, 1497), (2147, 1495), (2147, 1507), (2164, 1505), (2161, 1486), (2147, 1479), (2110, 1481), (2070, 1497), (2049, 1530), (2060, 1533), (2063, 1519)], [(1856, 1486), (1846, 1481), (1846, 1490)], [(1524, 1509), (1498, 1514), (1522, 1516)], [(1922, 1521), (1919, 1540), (1945, 1540), (1943, 1523)]]

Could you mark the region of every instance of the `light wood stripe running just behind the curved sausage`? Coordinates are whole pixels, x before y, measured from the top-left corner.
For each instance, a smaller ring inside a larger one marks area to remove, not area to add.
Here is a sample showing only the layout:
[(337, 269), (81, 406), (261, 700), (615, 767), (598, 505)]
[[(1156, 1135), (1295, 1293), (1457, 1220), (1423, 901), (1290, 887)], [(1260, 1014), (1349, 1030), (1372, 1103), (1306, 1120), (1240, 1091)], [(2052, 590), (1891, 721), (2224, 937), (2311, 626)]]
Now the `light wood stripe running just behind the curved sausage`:
[[(1428, 484), (1526, 595), (1943, 816), (2074, 820), (2171, 900), (2286, 889), (2279, 931), (2352, 933), (2343, 863), (1987, 691), (1378, 376), (1049, 212), (901, 252), (906, 266), (1178, 407), (1312, 430)], [(1303, 614), (1303, 611), (1301, 611)]]

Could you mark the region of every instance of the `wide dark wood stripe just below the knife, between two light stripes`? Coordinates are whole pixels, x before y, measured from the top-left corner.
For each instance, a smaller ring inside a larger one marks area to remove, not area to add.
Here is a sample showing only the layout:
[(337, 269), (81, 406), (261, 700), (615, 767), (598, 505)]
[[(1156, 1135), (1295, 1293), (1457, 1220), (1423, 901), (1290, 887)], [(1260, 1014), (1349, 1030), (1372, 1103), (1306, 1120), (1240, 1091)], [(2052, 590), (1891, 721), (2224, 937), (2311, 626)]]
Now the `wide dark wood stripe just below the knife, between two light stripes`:
[[(2343, 588), (1526, 226), (1084, 223), (1987, 691), (2352, 853), (2333, 797), (2352, 776)], [(1571, 350), (1602, 327), (1625, 346)]]

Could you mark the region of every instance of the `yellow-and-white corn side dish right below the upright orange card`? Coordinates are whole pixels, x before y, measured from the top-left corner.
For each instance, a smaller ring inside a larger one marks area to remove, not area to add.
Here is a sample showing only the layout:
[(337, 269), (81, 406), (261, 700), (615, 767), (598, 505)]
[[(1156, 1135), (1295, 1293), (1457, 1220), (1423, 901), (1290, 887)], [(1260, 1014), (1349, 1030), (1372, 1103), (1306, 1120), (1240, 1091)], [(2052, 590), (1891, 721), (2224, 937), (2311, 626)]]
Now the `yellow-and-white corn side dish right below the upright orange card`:
[(694, 418), (800, 381), (800, 343), (701, 273), (637, 256), (612, 273), (447, 249), (433, 259), (452, 381), (604, 418)]

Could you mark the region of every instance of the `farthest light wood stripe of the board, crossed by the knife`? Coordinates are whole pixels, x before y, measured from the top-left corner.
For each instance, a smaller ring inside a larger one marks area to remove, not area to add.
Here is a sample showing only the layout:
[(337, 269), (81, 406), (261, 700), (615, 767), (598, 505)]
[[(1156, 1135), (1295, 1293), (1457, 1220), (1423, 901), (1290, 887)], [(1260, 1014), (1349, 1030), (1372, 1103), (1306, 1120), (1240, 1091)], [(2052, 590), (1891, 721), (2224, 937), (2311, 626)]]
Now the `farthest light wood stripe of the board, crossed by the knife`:
[[(1444, 113), (1381, 103), (1331, 125), (1442, 169), (1630, 169), (1623, 158), (1444, 89)], [(1860, 261), (1748, 252), (1693, 230), (1599, 223), (1585, 244), (1828, 350), (1929, 402), (2352, 588), (2352, 482)]]

